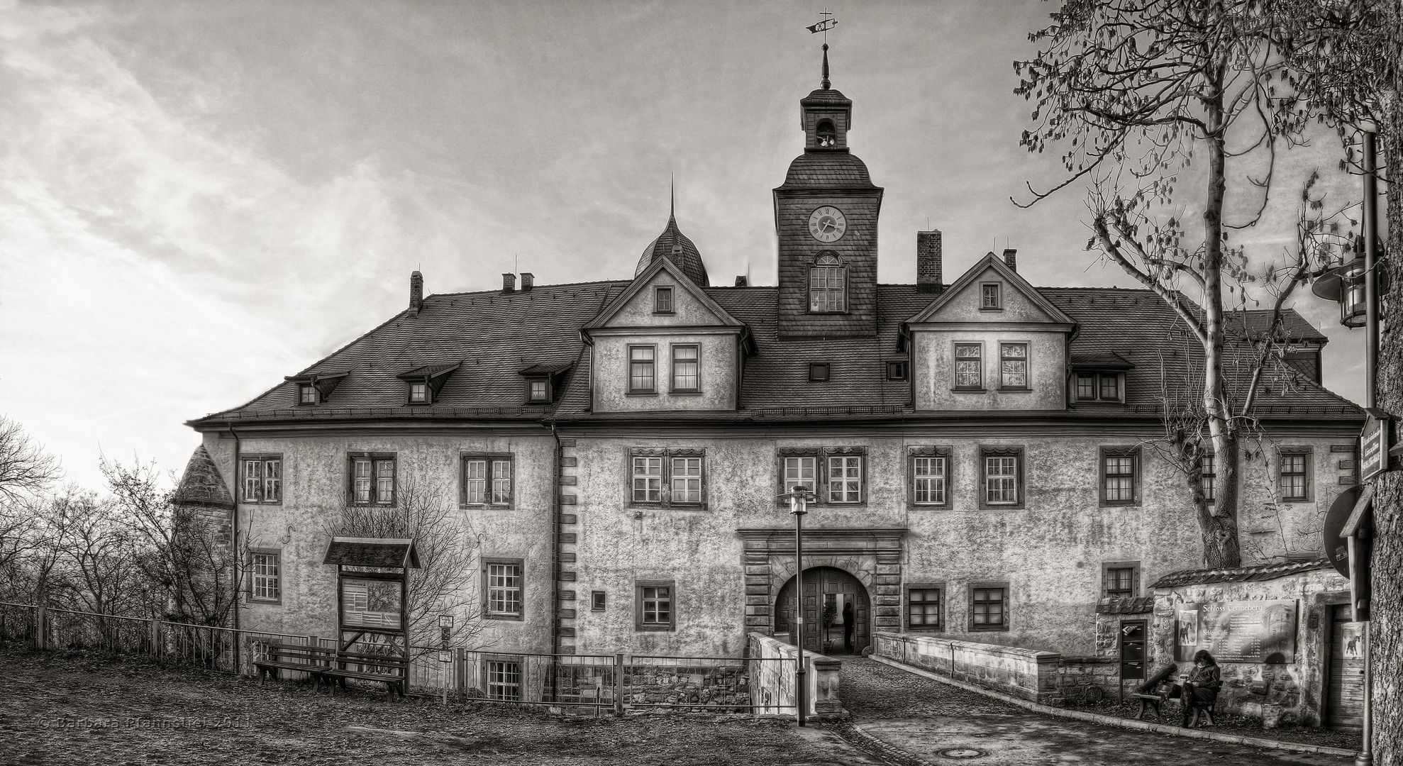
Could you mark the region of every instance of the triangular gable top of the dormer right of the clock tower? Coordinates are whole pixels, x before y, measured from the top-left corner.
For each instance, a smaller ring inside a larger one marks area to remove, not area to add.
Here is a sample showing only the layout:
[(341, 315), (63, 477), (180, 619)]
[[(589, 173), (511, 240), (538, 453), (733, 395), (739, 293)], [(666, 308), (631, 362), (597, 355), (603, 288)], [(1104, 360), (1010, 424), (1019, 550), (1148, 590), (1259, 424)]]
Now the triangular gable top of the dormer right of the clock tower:
[[(998, 311), (981, 310), (981, 285), (991, 282), (1000, 285)], [(1076, 320), (1042, 297), (1037, 288), (1005, 265), (993, 253), (981, 258), (946, 288), (940, 297), (906, 321), (909, 324), (950, 321), (1076, 324)]]

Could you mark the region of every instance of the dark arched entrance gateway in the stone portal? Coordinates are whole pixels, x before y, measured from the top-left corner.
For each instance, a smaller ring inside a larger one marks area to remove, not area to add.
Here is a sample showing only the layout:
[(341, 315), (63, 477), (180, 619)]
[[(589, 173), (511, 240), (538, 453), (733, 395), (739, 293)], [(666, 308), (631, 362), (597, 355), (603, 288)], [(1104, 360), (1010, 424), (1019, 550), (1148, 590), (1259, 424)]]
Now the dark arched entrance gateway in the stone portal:
[[(774, 602), (774, 631), (794, 640), (797, 627), (794, 579), (780, 588)], [(852, 606), (852, 610), (845, 607)], [(822, 654), (861, 652), (871, 643), (871, 599), (853, 575), (835, 567), (804, 570), (804, 648)], [(853, 645), (846, 647), (846, 623), (852, 621)]]

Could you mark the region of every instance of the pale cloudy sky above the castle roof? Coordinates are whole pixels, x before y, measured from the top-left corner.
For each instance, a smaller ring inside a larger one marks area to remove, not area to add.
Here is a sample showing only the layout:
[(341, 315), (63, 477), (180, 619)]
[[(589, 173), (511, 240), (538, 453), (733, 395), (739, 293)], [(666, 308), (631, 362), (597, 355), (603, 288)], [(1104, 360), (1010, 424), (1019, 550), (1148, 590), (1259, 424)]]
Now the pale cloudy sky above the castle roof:
[[(1038, 0), (833, 4), (833, 87), (885, 187), (884, 282), (944, 231), (947, 279), (1019, 248), (1037, 285), (1129, 285), (1083, 251), (1075, 188), (1019, 147), (1012, 62)], [(181, 469), (184, 421), (241, 404), (429, 292), (501, 272), (627, 278), (668, 215), (717, 283), (774, 282), (770, 189), (818, 87), (818, 3), (0, 0), (0, 412), (97, 484)], [(1294, 150), (1256, 258), (1294, 240)], [(1336, 199), (1354, 189), (1341, 182)], [(1187, 215), (1193, 203), (1186, 202)], [(1326, 383), (1357, 396), (1360, 332)]]

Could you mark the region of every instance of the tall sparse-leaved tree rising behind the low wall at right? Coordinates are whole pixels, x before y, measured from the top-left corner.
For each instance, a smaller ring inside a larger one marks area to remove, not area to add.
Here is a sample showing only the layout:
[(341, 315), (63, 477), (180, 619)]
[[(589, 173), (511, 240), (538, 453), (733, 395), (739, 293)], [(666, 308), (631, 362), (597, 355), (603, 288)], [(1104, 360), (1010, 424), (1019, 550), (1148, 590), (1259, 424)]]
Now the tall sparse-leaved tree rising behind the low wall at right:
[[(1256, 223), (1266, 206), (1278, 145), (1296, 142), (1305, 125), (1299, 111), (1275, 98), (1282, 63), (1270, 32), (1254, 0), (1065, 0), (1052, 24), (1030, 35), (1047, 49), (1014, 65), (1023, 76), (1016, 93), (1037, 100), (1035, 128), (1024, 130), (1023, 145), (1030, 152), (1068, 147), (1068, 178), (1034, 192), (1028, 205), (1089, 182), (1087, 248), (1159, 296), (1202, 355), (1201, 404), (1166, 422), (1177, 422), (1172, 439), (1195, 501), (1205, 561), (1215, 568), (1242, 560), (1239, 443), (1253, 426), (1260, 390), (1250, 384), (1256, 370), (1235, 379), (1229, 347), (1246, 340), (1261, 361), (1257, 369), (1266, 366), (1287, 341), (1281, 309), (1310, 272), (1308, 251), (1253, 271), (1246, 253), (1229, 246), (1229, 231)], [(1166, 215), (1195, 154), (1207, 170), (1197, 199), (1200, 237)], [(1243, 174), (1236, 188), (1258, 195), (1256, 213), (1225, 222), (1228, 161), (1243, 156), (1254, 157), (1258, 173)], [(1275, 297), (1274, 311), (1267, 327), (1243, 316), (1237, 330), (1247, 337), (1235, 338), (1232, 313), (1247, 307), (1249, 283)], [(1235, 383), (1246, 391), (1236, 403)], [(1197, 469), (1209, 453), (1218, 474), (1212, 504), (1198, 490)]]

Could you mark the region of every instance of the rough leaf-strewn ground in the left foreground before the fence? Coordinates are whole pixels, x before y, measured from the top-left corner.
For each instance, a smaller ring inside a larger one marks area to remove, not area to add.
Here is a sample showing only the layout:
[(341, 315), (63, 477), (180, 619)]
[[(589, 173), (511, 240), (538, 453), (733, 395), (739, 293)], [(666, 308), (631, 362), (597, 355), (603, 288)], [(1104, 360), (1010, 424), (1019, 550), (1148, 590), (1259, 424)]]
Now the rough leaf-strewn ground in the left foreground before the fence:
[(304, 683), (168, 669), (140, 658), (0, 647), (0, 762), (530, 763), (838, 766), (868, 763), (779, 720), (550, 715), (492, 704), (330, 697)]

